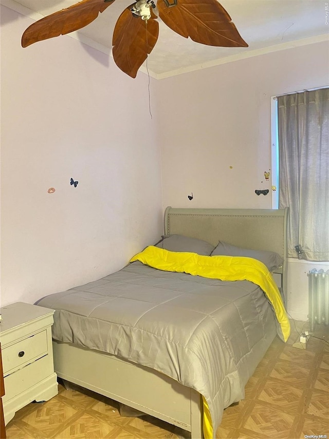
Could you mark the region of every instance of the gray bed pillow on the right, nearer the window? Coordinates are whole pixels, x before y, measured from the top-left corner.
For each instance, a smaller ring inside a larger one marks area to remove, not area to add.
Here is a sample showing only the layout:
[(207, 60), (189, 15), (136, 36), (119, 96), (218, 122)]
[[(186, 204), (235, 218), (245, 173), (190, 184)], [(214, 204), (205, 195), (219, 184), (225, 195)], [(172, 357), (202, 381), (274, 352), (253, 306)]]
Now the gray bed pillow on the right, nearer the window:
[(263, 262), (269, 271), (276, 270), (283, 264), (283, 258), (276, 252), (269, 252), (267, 250), (248, 250), (227, 242), (218, 242), (217, 247), (211, 253), (211, 256), (245, 256), (248, 258), (258, 259)]

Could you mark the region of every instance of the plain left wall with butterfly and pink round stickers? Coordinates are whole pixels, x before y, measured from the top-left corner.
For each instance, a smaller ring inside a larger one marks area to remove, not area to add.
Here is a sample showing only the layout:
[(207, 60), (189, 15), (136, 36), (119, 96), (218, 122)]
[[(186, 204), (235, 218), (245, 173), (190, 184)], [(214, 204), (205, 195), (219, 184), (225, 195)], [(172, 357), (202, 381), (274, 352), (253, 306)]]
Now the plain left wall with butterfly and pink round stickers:
[(148, 77), (68, 36), (23, 49), (32, 20), (1, 19), (5, 305), (122, 268), (160, 236), (162, 200)]

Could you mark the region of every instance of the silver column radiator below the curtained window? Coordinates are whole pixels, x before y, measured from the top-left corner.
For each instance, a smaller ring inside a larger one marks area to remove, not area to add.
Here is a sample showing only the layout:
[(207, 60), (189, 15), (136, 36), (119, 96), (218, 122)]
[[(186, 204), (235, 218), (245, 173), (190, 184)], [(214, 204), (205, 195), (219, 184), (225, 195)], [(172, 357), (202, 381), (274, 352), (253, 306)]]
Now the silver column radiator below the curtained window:
[(308, 272), (308, 321), (311, 331), (317, 323), (329, 323), (329, 270)]

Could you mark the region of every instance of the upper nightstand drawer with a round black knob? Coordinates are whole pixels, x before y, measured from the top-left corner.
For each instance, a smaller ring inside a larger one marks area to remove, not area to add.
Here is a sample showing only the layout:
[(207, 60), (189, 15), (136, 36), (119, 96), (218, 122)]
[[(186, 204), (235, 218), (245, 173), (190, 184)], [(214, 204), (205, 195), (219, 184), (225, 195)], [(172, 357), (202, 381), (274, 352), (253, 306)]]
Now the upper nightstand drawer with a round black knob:
[(2, 351), (4, 376), (47, 354), (47, 331), (44, 330)]

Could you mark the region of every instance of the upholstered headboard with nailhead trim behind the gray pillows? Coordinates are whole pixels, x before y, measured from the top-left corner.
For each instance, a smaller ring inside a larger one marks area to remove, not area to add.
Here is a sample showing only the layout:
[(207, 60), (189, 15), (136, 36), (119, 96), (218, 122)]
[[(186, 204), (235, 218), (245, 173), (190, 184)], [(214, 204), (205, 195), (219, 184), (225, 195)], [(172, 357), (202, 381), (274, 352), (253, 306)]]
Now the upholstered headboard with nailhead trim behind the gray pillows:
[[(165, 235), (185, 235), (213, 245), (219, 240), (245, 249), (269, 250), (284, 259), (281, 287), (287, 304), (287, 232), (285, 209), (188, 209), (167, 207)], [(277, 279), (276, 279), (277, 280)]]

